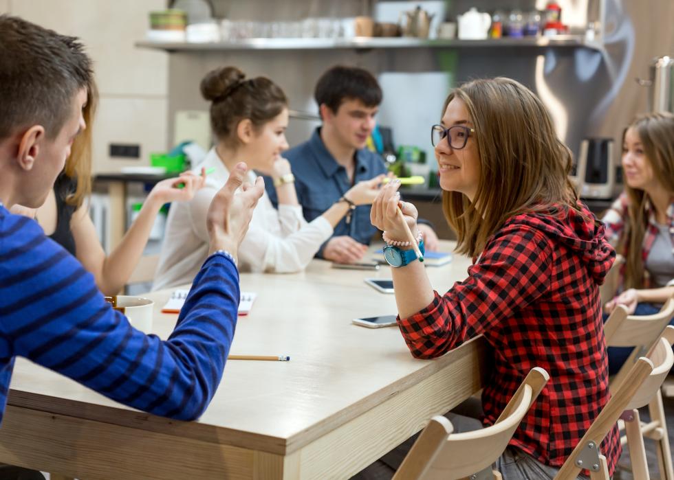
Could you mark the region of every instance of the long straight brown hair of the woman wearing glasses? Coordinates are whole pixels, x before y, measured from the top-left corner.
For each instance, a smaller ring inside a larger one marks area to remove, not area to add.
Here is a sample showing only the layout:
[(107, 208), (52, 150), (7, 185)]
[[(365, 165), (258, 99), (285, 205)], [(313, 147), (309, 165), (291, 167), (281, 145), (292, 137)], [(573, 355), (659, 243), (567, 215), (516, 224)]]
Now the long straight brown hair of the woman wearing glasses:
[(457, 231), (457, 251), (472, 257), (505, 220), (552, 205), (577, 209), (568, 175), (572, 154), (557, 137), (543, 102), (510, 78), (473, 80), (452, 91), (466, 104), (475, 126), (481, 165), (479, 185), (470, 202), (460, 192), (443, 192), (442, 209)]

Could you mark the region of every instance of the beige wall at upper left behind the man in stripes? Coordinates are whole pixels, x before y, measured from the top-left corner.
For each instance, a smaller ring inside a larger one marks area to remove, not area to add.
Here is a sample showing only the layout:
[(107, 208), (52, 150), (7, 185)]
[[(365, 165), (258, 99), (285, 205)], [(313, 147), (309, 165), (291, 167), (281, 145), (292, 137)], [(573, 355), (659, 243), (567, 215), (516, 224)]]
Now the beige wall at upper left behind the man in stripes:
[[(100, 104), (94, 123), (94, 172), (148, 165), (149, 152), (168, 148), (168, 58), (138, 49), (147, 13), (165, 0), (0, 0), (5, 9), (59, 33), (82, 38), (94, 59)], [(111, 159), (109, 144), (140, 144), (140, 159)]]

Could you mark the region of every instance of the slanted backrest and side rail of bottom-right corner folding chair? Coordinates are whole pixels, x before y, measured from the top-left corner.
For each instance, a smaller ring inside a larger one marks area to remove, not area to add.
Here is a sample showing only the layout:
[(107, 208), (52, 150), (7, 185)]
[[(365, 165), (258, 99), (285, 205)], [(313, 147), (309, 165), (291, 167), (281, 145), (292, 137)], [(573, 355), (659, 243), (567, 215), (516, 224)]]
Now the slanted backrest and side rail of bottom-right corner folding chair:
[(627, 409), (642, 407), (655, 396), (667, 372), (674, 364), (672, 343), (674, 343), (674, 327), (668, 326), (660, 340), (649, 352), (648, 358), (640, 357), (631, 367), (627, 375), (629, 381), (623, 382), (613, 393), (611, 400), (607, 402), (596, 420), (592, 422), (583, 435), (583, 439), (578, 442), (573, 453), (569, 455), (569, 458), (559, 469), (555, 480), (576, 479), (581, 470), (576, 461), (583, 450), (588, 448), (589, 442), (594, 443), (594, 449), (596, 450), (607, 433), (613, 428), (613, 425), (618, 422), (622, 412)]

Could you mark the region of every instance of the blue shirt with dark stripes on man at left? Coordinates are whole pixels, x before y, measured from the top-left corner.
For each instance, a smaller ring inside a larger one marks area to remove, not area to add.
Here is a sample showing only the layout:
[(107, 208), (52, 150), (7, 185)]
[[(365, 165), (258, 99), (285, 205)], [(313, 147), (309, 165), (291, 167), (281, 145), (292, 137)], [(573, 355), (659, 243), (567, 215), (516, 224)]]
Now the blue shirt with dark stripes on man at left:
[(0, 422), (15, 356), (113, 400), (193, 420), (213, 398), (237, 323), (239, 273), (213, 255), (166, 341), (129, 325), (39, 225), (0, 204)]

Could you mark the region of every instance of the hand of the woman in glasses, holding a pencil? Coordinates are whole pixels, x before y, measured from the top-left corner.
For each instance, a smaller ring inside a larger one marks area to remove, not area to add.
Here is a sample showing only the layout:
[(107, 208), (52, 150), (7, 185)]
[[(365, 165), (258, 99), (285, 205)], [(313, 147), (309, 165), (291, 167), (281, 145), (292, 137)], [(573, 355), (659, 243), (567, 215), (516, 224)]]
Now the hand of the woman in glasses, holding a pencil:
[(408, 240), (408, 235), (403, 220), (398, 214), (398, 207), (402, 210), (402, 218), (407, 222), (413, 234), (417, 231), (418, 213), (413, 204), (400, 201), (398, 187), (400, 187), (400, 182), (397, 180), (393, 180), (382, 187), (372, 203), (370, 221), (378, 229), (386, 231), (388, 238), (391, 240), (404, 242)]

